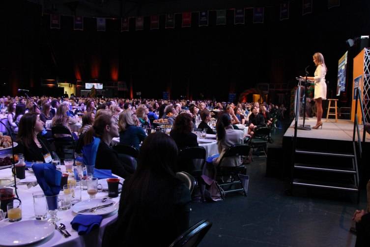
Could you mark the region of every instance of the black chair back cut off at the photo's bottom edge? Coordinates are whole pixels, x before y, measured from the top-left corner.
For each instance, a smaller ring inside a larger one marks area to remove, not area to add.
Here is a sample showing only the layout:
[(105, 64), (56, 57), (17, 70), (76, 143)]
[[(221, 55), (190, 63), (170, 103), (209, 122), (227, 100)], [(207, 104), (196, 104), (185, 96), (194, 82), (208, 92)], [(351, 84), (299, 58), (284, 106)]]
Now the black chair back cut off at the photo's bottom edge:
[(196, 247), (211, 227), (212, 223), (208, 220), (200, 220), (173, 241), (170, 247)]

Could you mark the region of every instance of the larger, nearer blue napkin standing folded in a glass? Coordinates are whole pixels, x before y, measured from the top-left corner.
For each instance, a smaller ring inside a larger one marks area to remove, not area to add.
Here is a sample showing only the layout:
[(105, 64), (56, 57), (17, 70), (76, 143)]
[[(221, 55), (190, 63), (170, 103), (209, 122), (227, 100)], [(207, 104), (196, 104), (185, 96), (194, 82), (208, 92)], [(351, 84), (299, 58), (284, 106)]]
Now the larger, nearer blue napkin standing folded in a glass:
[(37, 183), (40, 185), (42, 191), (47, 196), (49, 210), (56, 210), (58, 208), (58, 198), (48, 197), (58, 195), (60, 191), (61, 172), (57, 167), (50, 163), (33, 164), (32, 170), (35, 173)]

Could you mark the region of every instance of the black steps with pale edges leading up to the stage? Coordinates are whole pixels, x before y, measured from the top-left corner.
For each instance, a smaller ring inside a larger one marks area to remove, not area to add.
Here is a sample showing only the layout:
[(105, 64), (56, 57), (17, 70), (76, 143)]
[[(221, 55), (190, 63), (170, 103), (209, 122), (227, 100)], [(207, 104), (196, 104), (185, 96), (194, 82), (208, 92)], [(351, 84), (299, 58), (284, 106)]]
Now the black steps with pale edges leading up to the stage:
[[(291, 186), (359, 192), (355, 143), (351, 146), (341, 152), (333, 151), (333, 147), (325, 147), (325, 150), (297, 147), (294, 150)], [(349, 153), (349, 150), (352, 152)]]

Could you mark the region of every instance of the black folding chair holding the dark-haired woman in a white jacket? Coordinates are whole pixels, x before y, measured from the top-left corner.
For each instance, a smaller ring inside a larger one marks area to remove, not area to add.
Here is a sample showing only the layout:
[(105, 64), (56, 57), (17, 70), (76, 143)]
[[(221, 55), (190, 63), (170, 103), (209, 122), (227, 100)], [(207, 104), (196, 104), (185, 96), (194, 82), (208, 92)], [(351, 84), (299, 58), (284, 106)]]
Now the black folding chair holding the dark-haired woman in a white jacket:
[[(217, 165), (217, 183), (221, 188), (221, 195), (222, 197), (225, 194), (232, 193), (232, 192), (239, 192), (243, 191), (243, 194), (247, 196), (242, 182), (238, 176), (238, 174), (246, 174), (246, 167), (245, 165), (239, 166), (230, 166), (228, 162), (230, 159), (228, 158), (240, 158), (240, 156), (248, 156), (251, 147), (247, 144), (236, 144), (228, 148), (225, 154), (221, 157), (220, 162)], [(232, 188), (233, 185), (240, 185), (240, 188)], [(228, 189), (225, 189), (228, 187)]]

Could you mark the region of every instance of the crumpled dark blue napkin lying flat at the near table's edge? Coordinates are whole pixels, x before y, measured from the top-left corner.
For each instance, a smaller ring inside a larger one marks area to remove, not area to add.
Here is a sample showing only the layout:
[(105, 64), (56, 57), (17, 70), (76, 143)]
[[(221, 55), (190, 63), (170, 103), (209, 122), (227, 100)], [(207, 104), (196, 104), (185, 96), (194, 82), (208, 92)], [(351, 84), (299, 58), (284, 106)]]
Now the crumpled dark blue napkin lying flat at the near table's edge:
[(85, 235), (94, 228), (99, 228), (103, 216), (77, 215), (71, 221), (72, 228), (78, 231), (78, 235)]

